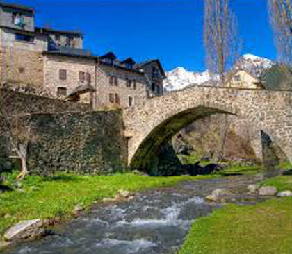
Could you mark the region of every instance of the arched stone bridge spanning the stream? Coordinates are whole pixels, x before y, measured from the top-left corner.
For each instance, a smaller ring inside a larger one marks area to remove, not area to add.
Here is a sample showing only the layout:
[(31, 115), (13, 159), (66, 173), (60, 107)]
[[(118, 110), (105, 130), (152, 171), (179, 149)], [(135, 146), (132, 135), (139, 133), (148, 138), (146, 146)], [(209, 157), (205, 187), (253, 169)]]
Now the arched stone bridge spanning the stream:
[(217, 113), (248, 119), (292, 162), (292, 91), (195, 86), (124, 110), (129, 166), (147, 170), (161, 146), (181, 128)]

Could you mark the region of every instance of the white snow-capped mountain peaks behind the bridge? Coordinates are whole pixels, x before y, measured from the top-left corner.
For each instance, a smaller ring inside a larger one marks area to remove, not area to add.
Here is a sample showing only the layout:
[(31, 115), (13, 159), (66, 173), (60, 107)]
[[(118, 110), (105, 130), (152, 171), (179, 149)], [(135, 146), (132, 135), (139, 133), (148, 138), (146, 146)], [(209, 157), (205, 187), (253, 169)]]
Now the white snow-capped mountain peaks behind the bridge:
[[(260, 76), (264, 69), (272, 67), (273, 64), (274, 62), (268, 58), (245, 54), (238, 59), (232, 69), (244, 69), (254, 76)], [(169, 71), (166, 77), (164, 87), (167, 92), (181, 90), (188, 87), (190, 84), (207, 85), (209, 83), (209, 85), (216, 85), (216, 81), (218, 81), (218, 76), (211, 75), (208, 70), (203, 72), (192, 72), (187, 71), (184, 67), (177, 67)]]

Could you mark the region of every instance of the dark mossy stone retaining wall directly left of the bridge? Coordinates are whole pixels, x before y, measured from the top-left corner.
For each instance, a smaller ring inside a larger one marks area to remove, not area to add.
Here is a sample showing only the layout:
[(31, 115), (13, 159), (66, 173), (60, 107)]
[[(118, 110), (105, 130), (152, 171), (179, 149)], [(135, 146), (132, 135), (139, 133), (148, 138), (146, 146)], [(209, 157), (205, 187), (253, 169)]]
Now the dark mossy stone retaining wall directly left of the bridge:
[(126, 164), (120, 112), (37, 114), (29, 116), (29, 122), (38, 137), (29, 146), (31, 173), (107, 174)]

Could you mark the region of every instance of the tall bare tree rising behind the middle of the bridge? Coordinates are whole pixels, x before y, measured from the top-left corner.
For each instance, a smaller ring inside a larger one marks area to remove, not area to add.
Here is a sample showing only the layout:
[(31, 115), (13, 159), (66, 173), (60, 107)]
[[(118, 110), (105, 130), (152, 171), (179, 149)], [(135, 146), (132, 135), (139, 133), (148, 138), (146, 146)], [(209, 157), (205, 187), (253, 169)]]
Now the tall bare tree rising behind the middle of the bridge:
[(206, 65), (210, 71), (224, 75), (234, 65), (240, 51), (237, 20), (229, 7), (229, 0), (205, 0), (204, 46)]

